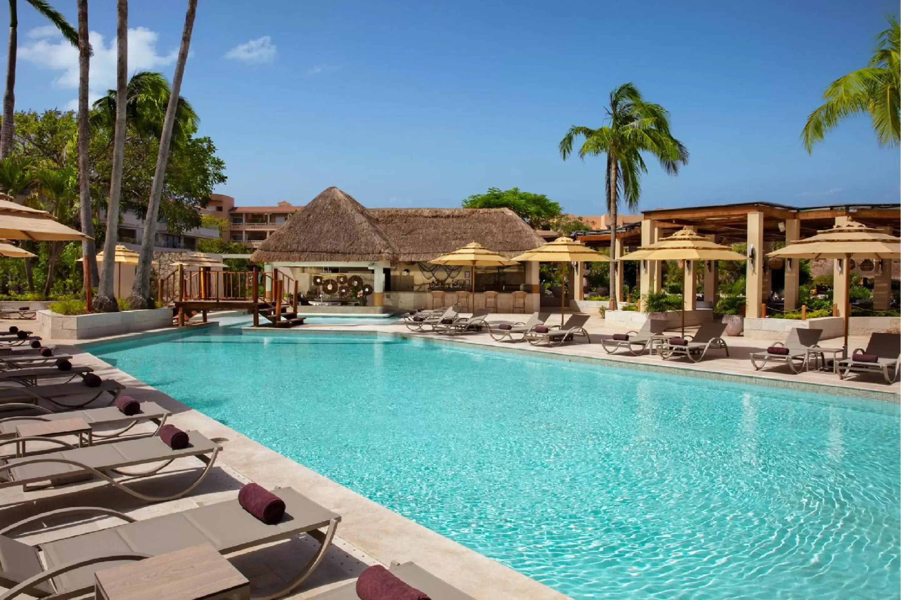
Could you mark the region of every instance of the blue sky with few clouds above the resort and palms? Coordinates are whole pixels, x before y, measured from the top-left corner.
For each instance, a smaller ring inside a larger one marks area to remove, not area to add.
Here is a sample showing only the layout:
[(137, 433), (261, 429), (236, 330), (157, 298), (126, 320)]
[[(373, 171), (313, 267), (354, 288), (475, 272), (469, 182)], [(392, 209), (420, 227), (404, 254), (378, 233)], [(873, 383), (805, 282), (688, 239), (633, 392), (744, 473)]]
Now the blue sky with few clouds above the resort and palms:
[[(186, 5), (132, 1), (130, 70), (171, 76)], [(90, 11), (103, 36), (97, 93), (114, 85), (115, 3)], [(371, 207), (459, 206), (518, 186), (599, 214), (603, 159), (563, 162), (557, 145), (570, 125), (600, 126), (627, 81), (669, 109), (691, 152), (678, 177), (649, 165), (642, 209), (897, 202), (898, 150), (878, 148), (866, 118), (812, 156), (798, 139), (893, 11), (882, 0), (200, 0), (182, 94), (226, 162), (217, 191), (241, 204), (302, 204), (338, 185)], [(19, 13), (16, 107), (70, 106), (73, 50), (27, 4)]]

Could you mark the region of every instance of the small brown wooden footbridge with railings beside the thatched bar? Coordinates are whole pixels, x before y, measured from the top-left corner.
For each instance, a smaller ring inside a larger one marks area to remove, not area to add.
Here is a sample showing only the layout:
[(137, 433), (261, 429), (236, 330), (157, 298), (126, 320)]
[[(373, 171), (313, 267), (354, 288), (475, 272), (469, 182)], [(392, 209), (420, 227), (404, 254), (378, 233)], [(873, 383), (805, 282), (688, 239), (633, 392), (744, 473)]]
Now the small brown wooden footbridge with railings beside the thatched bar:
[[(252, 271), (211, 271), (202, 267), (187, 272), (184, 266), (159, 279), (157, 298), (161, 306), (177, 309), (177, 325), (184, 327), (188, 313), (199, 312), (206, 322), (211, 310), (246, 310), (253, 315), (253, 327), (295, 327), (304, 324), (297, 317), (297, 282), (278, 269), (272, 273)], [(260, 326), (259, 318), (268, 323)]]

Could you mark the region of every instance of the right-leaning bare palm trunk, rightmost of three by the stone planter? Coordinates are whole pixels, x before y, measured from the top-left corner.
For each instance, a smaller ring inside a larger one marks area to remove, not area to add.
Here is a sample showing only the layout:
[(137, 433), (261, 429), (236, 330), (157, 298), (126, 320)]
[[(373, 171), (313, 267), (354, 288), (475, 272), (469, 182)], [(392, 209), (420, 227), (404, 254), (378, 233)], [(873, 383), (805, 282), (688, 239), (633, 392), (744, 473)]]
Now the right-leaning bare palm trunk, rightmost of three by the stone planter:
[(178, 94), (181, 92), (182, 76), (185, 75), (187, 50), (191, 46), (191, 31), (194, 29), (196, 12), (197, 0), (188, 0), (187, 13), (185, 14), (185, 29), (181, 33), (181, 46), (178, 49), (175, 74), (172, 76), (172, 90), (169, 94), (168, 106), (166, 107), (166, 121), (163, 121), (163, 131), (159, 138), (157, 167), (153, 173), (153, 183), (150, 185), (150, 201), (147, 206), (147, 216), (144, 220), (144, 237), (141, 239), (141, 257), (138, 260), (138, 268), (134, 273), (132, 296), (129, 298), (129, 304), (132, 309), (149, 309), (152, 306), (150, 303), (150, 263), (153, 260), (153, 243), (157, 236), (159, 202), (162, 200), (163, 195), (163, 180), (166, 177), (169, 145), (172, 141), (172, 128), (175, 126)]

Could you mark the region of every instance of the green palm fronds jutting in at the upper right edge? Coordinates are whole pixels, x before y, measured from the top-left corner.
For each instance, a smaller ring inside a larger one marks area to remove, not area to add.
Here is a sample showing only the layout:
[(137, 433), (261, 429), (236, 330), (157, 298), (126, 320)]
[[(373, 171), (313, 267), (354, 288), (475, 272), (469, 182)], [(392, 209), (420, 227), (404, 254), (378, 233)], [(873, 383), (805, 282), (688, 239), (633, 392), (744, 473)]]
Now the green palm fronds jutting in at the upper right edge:
[(877, 36), (869, 65), (833, 81), (823, 93), (826, 103), (807, 117), (801, 132), (807, 152), (813, 151), (815, 143), (841, 121), (863, 113), (869, 113), (879, 146), (894, 148), (898, 145), (901, 135), (901, 96), (898, 93), (901, 28), (895, 16), (887, 16), (887, 20), (888, 29)]

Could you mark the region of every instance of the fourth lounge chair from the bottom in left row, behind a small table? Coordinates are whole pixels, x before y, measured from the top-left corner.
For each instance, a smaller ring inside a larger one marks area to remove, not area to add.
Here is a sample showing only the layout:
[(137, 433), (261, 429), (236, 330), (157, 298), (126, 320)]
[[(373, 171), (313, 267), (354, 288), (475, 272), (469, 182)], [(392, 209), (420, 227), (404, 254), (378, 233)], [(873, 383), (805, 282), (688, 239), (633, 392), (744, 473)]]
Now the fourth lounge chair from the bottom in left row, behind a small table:
[[(4, 406), (4, 409), (10, 408), (14, 408), (14, 406)], [(156, 435), (159, 433), (159, 428), (166, 424), (166, 419), (170, 415), (168, 410), (160, 407), (156, 402), (141, 402), (141, 412), (136, 415), (125, 415), (116, 407), (85, 408), (83, 410), (69, 410), (63, 413), (55, 413), (49, 408), (36, 407), (33, 404), (22, 404), (19, 405), (19, 408), (30, 414), (0, 418), (0, 440), (13, 439), (16, 436), (15, 428), (18, 425), (70, 418), (80, 418), (87, 425), (91, 425), (91, 436), (94, 438), (95, 443), (119, 438), (143, 421), (150, 421), (157, 425), (157, 428), (140, 435)], [(39, 414), (33, 414), (35, 411)], [(96, 429), (97, 427), (103, 427), (103, 429)], [(110, 427), (115, 427), (115, 429), (110, 429)], [(129, 439), (131, 437), (129, 436)]]

